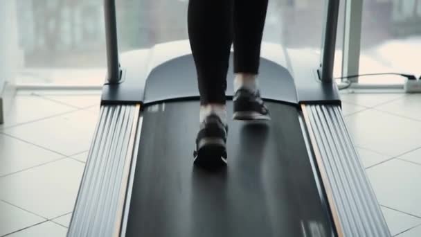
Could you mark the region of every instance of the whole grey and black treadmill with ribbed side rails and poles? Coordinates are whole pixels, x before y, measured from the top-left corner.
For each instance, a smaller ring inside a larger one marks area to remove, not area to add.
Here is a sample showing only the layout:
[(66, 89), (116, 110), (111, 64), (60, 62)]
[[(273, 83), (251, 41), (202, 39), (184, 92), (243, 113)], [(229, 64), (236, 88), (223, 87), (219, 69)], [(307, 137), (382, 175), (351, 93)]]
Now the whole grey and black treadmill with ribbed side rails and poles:
[(108, 80), (68, 237), (391, 236), (332, 78), (339, 1), (326, 4), (321, 57), (262, 44), (272, 120), (229, 122), (220, 170), (192, 162), (199, 94), (188, 41), (119, 57), (115, 2), (104, 3)]

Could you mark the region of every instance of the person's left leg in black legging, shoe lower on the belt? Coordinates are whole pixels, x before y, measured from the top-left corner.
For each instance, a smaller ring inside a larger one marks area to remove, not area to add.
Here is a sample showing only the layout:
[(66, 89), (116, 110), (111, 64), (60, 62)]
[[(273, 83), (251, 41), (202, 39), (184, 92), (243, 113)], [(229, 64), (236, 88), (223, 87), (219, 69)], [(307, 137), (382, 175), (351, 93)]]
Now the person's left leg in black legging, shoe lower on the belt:
[(232, 0), (190, 0), (188, 35), (200, 94), (195, 164), (226, 163), (226, 73), (232, 44)]

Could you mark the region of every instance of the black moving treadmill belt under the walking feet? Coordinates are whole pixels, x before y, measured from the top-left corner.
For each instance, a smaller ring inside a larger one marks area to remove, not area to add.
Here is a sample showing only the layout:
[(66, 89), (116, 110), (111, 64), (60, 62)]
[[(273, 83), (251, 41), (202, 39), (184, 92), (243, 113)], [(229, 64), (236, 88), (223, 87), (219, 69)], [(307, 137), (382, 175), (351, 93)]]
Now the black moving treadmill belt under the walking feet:
[(126, 236), (334, 236), (296, 107), (267, 105), (267, 123), (229, 119), (218, 171), (192, 165), (197, 101), (145, 108)]

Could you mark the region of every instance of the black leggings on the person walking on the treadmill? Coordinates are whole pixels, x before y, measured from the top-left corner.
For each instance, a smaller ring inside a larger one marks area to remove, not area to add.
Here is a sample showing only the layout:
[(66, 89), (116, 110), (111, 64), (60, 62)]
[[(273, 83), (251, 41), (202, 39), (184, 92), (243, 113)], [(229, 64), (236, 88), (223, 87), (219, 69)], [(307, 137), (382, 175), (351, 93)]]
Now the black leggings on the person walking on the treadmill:
[(234, 72), (257, 74), (268, 0), (190, 0), (188, 35), (200, 103), (225, 104), (231, 44)]

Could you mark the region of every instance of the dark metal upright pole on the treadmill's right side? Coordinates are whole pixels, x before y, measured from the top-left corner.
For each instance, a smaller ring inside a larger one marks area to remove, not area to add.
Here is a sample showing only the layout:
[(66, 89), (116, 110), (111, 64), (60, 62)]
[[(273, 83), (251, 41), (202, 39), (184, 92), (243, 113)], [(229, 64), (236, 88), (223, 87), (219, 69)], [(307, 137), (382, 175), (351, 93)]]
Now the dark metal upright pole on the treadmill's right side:
[(334, 51), (337, 40), (339, 0), (328, 1), (328, 15), (326, 17), (323, 59), (321, 63), (321, 81), (325, 83), (332, 83)]

